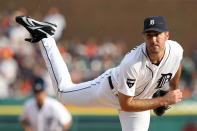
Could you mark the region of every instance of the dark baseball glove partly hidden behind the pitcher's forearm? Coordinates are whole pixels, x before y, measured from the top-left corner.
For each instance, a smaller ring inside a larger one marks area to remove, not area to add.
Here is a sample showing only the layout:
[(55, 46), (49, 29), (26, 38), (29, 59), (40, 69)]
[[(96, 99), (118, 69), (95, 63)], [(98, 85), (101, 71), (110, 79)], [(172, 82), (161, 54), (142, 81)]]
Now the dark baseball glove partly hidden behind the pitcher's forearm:
[[(164, 90), (158, 90), (153, 94), (153, 98), (156, 97), (160, 97), (160, 96), (164, 96), (165, 94), (167, 94), (168, 91), (164, 91)], [(161, 106), (158, 108), (153, 109), (153, 112), (157, 115), (157, 116), (162, 116), (166, 110), (168, 110), (170, 107), (169, 106)]]

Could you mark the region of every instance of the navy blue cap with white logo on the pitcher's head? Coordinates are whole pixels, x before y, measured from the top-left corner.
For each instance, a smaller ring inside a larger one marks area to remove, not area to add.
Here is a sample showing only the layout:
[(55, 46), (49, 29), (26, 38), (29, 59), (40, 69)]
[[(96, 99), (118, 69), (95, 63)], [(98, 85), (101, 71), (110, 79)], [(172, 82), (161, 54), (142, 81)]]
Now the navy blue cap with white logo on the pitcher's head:
[(149, 16), (144, 19), (143, 33), (148, 31), (166, 32), (166, 21), (162, 16)]

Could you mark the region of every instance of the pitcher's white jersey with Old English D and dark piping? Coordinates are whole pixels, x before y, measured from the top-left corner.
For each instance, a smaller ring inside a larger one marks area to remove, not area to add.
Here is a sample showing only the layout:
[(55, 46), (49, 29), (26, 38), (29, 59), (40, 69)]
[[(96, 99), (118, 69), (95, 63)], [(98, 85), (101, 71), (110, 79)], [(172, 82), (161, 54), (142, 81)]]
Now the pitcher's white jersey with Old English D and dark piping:
[(176, 74), (182, 55), (182, 47), (175, 41), (167, 40), (165, 55), (160, 64), (155, 65), (150, 61), (143, 43), (112, 69), (113, 85), (116, 91), (136, 99), (151, 98), (157, 89), (168, 87), (166, 85)]

